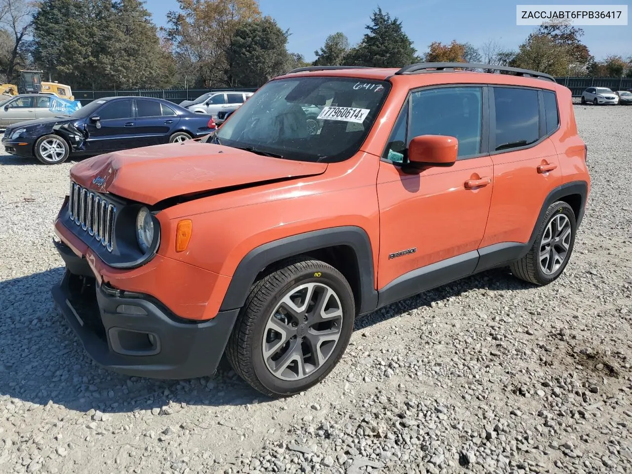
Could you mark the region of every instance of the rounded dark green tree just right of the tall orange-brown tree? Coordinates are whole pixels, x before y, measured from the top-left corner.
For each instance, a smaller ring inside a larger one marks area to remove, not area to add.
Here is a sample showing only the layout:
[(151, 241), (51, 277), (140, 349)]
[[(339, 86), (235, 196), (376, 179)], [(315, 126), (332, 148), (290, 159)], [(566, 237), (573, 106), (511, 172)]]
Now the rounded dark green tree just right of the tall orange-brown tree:
[(269, 16), (237, 28), (226, 52), (226, 76), (233, 87), (260, 87), (286, 72), (288, 32)]

